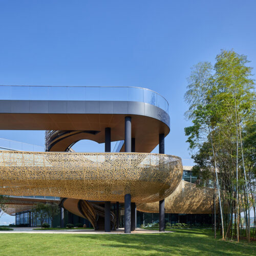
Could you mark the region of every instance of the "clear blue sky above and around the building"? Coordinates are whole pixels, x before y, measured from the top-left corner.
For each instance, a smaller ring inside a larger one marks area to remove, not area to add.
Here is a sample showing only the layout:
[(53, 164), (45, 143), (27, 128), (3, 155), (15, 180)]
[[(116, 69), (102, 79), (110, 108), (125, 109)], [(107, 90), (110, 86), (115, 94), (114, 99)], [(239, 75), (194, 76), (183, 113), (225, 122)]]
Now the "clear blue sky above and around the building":
[[(255, 67), (255, 14), (254, 0), (0, 0), (0, 84), (154, 90), (170, 104), (165, 152), (188, 159), (183, 96), (190, 67), (214, 62), (221, 49), (247, 55)], [(42, 131), (1, 137), (44, 145)]]

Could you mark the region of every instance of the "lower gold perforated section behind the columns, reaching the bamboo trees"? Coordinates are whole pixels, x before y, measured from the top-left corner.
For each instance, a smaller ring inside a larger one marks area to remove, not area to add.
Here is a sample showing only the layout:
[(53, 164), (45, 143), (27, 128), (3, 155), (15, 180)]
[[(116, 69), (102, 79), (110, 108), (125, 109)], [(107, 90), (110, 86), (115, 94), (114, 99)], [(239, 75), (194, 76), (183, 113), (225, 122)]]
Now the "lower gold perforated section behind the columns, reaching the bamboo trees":
[[(169, 214), (212, 214), (213, 189), (200, 188), (182, 180), (173, 194), (165, 198), (165, 212)], [(217, 198), (218, 212), (218, 198)], [(142, 203), (137, 209), (145, 212), (159, 212), (159, 203)]]

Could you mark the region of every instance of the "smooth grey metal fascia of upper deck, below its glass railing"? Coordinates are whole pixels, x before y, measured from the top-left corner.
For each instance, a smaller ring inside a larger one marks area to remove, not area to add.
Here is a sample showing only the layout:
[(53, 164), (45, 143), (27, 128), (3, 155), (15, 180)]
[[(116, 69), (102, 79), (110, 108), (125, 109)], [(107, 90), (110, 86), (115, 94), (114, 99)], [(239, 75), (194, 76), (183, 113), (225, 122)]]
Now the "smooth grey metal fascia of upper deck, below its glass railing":
[(0, 100), (3, 114), (123, 114), (152, 117), (169, 126), (169, 115), (158, 106), (138, 101)]

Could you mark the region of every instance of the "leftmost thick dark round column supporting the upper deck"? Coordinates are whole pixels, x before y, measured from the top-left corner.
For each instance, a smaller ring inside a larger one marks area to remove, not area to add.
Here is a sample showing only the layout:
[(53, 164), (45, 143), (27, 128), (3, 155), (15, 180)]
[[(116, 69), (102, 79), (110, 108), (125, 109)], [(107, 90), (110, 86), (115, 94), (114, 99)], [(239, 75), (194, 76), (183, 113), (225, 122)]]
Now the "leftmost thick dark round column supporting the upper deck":
[[(111, 152), (111, 128), (105, 128), (105, 152)], [(104, 229), (105, 232), (111, 231), (111, 204), (110, 201), (105, 202)]]

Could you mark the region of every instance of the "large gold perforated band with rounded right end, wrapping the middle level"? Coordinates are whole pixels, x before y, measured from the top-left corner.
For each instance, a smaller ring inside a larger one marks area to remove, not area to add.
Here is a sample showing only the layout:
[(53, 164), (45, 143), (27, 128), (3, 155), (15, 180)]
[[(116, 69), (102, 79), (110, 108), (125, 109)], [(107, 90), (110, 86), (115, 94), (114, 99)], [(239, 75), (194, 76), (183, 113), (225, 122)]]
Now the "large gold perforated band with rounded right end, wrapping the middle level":
[(0, 194), (155, 202), (182, 177), (179, 157), (147, 153), (0, 152)]

